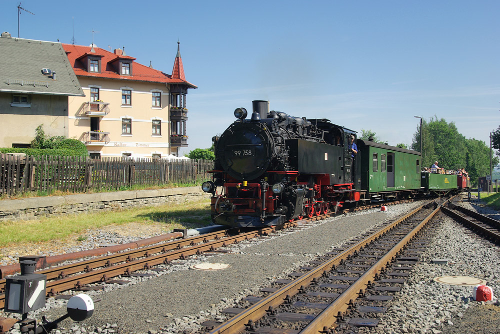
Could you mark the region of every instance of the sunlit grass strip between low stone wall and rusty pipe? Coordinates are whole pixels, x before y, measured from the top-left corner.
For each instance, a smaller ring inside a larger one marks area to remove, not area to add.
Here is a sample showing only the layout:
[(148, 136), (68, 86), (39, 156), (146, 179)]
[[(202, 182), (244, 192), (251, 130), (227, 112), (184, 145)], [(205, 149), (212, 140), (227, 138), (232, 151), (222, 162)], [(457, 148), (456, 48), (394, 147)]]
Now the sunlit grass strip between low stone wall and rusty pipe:
[[(157, 207), (113, 210), (80, 215), (61, 215), (39, 220), (0, 223), (0, 248), (52, 240), (86, 239), (86, 230), (128, 223), (161, 224), (164, 231), (174, 228), (198, 228), (209, 225), (210, 202), (166, 204)], [(77, 237), (76, 237), (77, 236)]]

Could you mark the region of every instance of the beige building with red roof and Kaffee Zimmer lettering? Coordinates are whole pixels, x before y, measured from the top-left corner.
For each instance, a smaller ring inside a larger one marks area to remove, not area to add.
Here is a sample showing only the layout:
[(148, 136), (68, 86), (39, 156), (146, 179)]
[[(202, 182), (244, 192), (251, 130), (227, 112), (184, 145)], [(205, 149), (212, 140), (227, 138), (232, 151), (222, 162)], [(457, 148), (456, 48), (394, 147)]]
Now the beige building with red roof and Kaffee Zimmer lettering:
[(68, 137), (91, 157), (177, 155), (187, 147), (187, 82), (177, 45), (172, 74), (135, 62), (121, 49), (62, 44), (84, 96), (68, 100)]

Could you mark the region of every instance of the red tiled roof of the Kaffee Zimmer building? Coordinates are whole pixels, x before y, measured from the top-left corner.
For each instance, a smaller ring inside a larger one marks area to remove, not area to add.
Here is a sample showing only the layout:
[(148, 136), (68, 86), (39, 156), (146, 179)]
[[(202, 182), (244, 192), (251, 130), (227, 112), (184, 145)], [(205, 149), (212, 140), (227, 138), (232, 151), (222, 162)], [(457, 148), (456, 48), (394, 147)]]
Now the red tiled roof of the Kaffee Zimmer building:
[[(182, 67), (182, 59), (175, 58), (175, 64), (179, 60), (180, 65), (179, 68), (181, 70), (182, 75), (168, 75), (154, 68), (150, 68), (148, 66), (144, 66), (139, 64), (138, 62), (133, 61), (132, 65), (132, 74), (128, 75), (120, 75), (117, 72), (117, 69), (112, 64), (116, 58), (126, 58), (126, 59), (135, 59), (133, 57), (127, 55), (117, 55), (113, 52), (109, 52), (107, 50), (101, 49), (100, 47), (95, 47), (95, 53), (90, 53), (90, 46), (84, 45), (73, 45), (73, 44), (62, 44), (64, 51), (67, 53), (67, 57), (69, 59), (69, 63), (73, 67), (74, 73), (77, 76), (86, 76), (86, 77), (96, 77), (96, 78), (109, 78), (109, 79), (120, 79), (120, 80), (131, 80), (131, 81), (150, 81), (150, 82), (161, 82), (161, 83), (185, 83), (189, 85), (191, 88), (197, 88), (192, 83), (185, 80), (184, 70)], [(102, 55), (101, 58), (101, 73), (93, 73), (87, 72), (84, 64), (78, 60), (84, 54), (95, 54)]]

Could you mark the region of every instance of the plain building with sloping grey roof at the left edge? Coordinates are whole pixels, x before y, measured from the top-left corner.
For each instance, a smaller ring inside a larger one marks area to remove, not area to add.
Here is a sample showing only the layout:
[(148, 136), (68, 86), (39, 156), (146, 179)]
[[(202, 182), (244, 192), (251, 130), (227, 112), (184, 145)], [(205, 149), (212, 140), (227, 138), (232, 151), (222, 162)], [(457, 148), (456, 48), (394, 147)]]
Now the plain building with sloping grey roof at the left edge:
[(68, 136), (68, 97), (84, 93), (61, 43), (0, 36), (0, 147), (29, 147), (43, 124)]

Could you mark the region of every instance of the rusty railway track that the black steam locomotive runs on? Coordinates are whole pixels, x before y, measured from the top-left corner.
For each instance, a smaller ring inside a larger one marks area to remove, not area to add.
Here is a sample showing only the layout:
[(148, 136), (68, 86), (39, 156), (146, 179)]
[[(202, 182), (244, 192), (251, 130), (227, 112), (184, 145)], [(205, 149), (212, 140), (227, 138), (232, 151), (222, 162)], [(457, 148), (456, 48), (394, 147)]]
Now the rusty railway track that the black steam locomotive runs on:
[[(406, 203), (411, 200), (391, 202), (391, 204)], [(136, 274), (137, 271), (150, 270), (160, 264), (169, 264), (171, 261), (184, 259), (191, 255), (203, 252), (214, 252), (217, 248), (226, 247), (232, 243), (265, 236), (276, 230), (294, 227), (299, 223), (316, 221), (336, 214), (349, 211), (359, 211), (378, 207), (380, 204), (344, 209), (337, 213), (328, 212), (300, 221), (287, 222), (280, 227), (265, 227), (258, 230), (241, 232), (242, 229), (231, 228), (181, 240), (96, 257), (90, 260), (51, 267), (36, 271), (47, 276), (46, 297), (56, 296), (67, 290), (85, 291), (98, 290), (102, 287), (89, 287), (94, 283), (126, 283), (122, 280), (113, 280), (117, 276), (149, 276), (151, 274)], [(1, 267), (0, 267), (1, 270)], [(164, 270), (164, 269), (157, 269)], [(0, 308), (3, 308), (5, 295), (5, 279), (0, 280)]]

